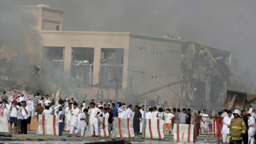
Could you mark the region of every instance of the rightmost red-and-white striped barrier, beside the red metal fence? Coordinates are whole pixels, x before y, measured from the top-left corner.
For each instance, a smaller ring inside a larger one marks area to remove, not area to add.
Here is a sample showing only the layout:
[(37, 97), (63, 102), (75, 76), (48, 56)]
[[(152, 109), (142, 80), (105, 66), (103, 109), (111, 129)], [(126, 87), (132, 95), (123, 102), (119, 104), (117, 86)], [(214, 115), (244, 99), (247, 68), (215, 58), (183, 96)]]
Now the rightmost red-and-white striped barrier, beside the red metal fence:
[(174, 124), (173, 141), (174, 142), (193, 142), (194, 125), (193, 124)]

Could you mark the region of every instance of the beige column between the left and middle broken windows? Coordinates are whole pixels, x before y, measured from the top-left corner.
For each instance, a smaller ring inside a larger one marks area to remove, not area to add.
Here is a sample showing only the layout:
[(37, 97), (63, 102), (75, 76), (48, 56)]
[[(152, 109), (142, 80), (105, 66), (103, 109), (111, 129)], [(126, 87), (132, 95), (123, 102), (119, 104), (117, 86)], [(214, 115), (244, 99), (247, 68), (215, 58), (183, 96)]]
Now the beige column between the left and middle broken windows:
[(71, 66), (71, 55), (72, 55), (72, 48), (65, 47), (65, 56), (64, 56), (64, 77), (70, 78), (70, 66)]

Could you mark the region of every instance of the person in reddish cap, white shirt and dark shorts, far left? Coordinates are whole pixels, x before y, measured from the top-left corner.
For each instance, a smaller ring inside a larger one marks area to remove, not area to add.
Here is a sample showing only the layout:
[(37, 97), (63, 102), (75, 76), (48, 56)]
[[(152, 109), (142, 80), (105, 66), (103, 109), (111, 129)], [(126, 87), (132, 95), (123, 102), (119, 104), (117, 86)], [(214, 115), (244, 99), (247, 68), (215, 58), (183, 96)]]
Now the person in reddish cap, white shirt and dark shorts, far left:
[(10, 125), (9, 125), (9, 130), (10, 130), (10, 134), (13, 133), (13, 124), (14, 124), (14, 132), (15, 134), (17, 134), (17, 122), (18, 122), (18, 119), (17, 119), (17, 110), (19, 110), (19, 106), (17, 105), (17, 101), (14, 99), (11, 103), (11, 108), (10, 108), (10, 119), (9, 119), (9, 122), (10, 122)]

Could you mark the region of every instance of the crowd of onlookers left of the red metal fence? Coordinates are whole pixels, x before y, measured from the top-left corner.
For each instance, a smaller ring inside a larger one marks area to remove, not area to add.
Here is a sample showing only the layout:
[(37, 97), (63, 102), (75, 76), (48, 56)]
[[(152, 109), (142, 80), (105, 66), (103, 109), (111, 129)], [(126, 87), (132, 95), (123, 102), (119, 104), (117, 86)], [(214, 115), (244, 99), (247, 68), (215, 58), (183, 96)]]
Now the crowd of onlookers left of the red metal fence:
[[(50, 99), (49, 95), (41, 97), (39, 93), (33, 97), (29, 97), (26, 91), (17, 95), (11, 92), (9, 97), (4, 92), (1, 96), (0, 102), (0, 128), (5, 132), (12, 134), (14, 129), (15, 134), (27, 134), (30, 130), (30, 122), (32, 117), (39, 117), (39, 115), (56, 115), (59, 118), (59, 135), (63, 131), (68, 131), (72, 137), (73, 133), (76, 137), (84, 137), (87, 127), (90, 127), (92, 137), (98, 137), (98, 117), (105, 117), (108, 120), (109, 133), (113, 132), (113, 119), (119, 118), (133, 118), (133, 127), (135, 134), (142, 133), (143, 121), (145, 119), (161, 119), (164, 122), (164, 133), (170, 134), (173, 124), (190, 124), (191, 113), (190, 109), (184, 108), (182, 112), (180, 109), (173, 108), (172, 111), (167, 108), (149, 108), (144, 110), (144, 106), (132, 106), (125, 103), (108, 101), (95, 102), (78, 105), (74, 98), (65, 99), (59, 97), (58, 102)], [(144, 118), (145, 112), (145, 118)], [(8, 124), (9, 123), (9, 124)], [(66, 128), (65, 128), (66, 127)], [(65, 129), (64, 129), (65, 128)]]

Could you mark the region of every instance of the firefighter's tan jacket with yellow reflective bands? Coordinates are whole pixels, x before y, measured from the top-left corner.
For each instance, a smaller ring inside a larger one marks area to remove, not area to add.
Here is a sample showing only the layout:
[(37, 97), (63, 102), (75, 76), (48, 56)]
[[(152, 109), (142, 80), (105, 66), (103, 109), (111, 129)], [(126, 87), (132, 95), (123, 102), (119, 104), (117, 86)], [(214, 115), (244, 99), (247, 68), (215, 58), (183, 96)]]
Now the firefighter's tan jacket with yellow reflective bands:
[(243, 119), (236, 117), (231, 119), (229, 125), (229, 138), (232, 140), (243, 140), (243, 137), (240, 137), (241, 134), (245, 134), (246, 125)]

